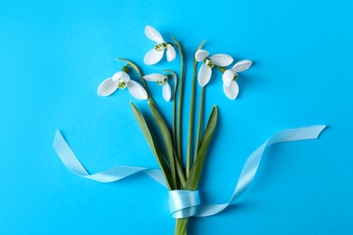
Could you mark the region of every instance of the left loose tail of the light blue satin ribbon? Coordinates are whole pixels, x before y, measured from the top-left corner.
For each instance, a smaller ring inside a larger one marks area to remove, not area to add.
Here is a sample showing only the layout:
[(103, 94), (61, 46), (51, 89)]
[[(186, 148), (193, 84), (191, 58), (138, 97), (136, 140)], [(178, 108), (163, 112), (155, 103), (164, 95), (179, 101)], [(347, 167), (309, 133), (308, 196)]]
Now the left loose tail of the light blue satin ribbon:
[(77, 174), (83, 178), (91, 179), (100, 183), (110, 183), (129, 177), (132, 174), (142, 172), (157, 181), (157, 183), (167, 187), (163, 174), (158, 169), (139, 166), (116, 166), (100, 173), (89, 174), (77, 156), (73, 153), (72, 148), (66, 142), (59, 130), (56, 131), (52, 147), (54, 148), (56, 154), (59, 155), (62, 163), (65, 164), (73, 174)]

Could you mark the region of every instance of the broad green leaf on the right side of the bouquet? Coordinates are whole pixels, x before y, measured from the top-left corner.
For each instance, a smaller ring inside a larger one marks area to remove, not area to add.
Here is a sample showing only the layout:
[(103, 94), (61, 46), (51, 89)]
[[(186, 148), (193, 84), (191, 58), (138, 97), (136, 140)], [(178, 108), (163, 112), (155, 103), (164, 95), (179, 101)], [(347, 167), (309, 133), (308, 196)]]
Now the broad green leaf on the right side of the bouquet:
[(185, 189), (196, 190), (198, 182), (200, 180), (202, 168), (205, 162), (205, 155), (207, 153), (208, 146), (211, 142), (212, 136), (215, 133), (215, 126), (217, 124), (217, 107), (212, 108), (210, 118), (208, 118), (207, 126), (205, 127), (205, 133), (200, 141), (200, 148), (197, 152), (196, 161), (191, 168), (190, 174), (187, 177)]

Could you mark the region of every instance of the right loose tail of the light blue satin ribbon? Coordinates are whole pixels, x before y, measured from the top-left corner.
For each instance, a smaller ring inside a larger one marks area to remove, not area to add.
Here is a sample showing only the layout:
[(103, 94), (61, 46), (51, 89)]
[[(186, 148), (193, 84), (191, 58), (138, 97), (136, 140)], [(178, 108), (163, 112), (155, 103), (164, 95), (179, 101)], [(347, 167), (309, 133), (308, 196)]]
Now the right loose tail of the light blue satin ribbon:
[(253, 153), (247, 158), (242, 173), (238, 178), (236, 183), (234, 193), (229, 200), (229, 202), (224, 204), (204, 204), (197, 207), (197, 212), (194, 216), (205, 217), (215, 215), (221, 211), (224, 211), (229, 205), (236, 201), (239, 196), (241, 196), (245, 190), (249, 187), (250, 183), (253, 182), (253, 177), (255, 176), (257, 169), (259, 167), (262, 154), (266, 146), (273, 144), (279, 144), (289, 141), (306, 140), (306, 139), (317, 139), (321, 131), (326, 126), (312, 126), (312, 127), (301, 127), (295, 129), (282, 130), (269, 139), (267, 139), (261, 146), (259, 146)]

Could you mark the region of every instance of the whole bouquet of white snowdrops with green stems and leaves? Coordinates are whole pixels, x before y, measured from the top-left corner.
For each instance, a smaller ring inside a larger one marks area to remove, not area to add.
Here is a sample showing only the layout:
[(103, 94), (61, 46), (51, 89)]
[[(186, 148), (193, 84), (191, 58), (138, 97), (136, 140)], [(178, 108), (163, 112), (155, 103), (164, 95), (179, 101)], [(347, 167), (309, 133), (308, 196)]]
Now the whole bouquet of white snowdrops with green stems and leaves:
[[(175, 71), (165, 70), (160, 73), (143, 74), (138, 65), (132, 61), (118, 58), (126, 64), (121, 71), (115, 73), (111, 78), (104, 80), (98, 89), (100, 96), (109, 96), (119, 89), (128, 89), (129, 93), (136, 99), (148, 99), (148, 108), (153, 116), (154, 123), (148, 123), (146, 118), (141, 114), (138, 108), (131, 102), (131, 108), (134, 116), (141, 128), (143, 135), (148, 142), (152, 153), (156, 156), (157, 163), (164, 175), (169, 192), (196, 192), (197, 185), (200, 180), (201, 172), (205, 162), (207, 148), (210, 145), (212, 136), (215, 132), (217, 123), (217, 107), (214, 106), (208, 118), (205, 128), (204, 108), (205, 108), (205, 89), (206, 85), (212, 77), (213, 71), (223, 73), (223, 89), (228, 99), (236, 99), (239, 87), (236, 82), (238, 73), (246, 71), (252, 65), (252, 61), (244, 60), (234, 63), (233, 58), (227, 54), (210, 55), (209, 52), (202, 49), (205, 41), (201, 42), (196, 49), (193, 66), (192, 92), (190, 97), (190, 111), (188, 119), (187, 147), (186, 153), (182, 151), (182, 111), (184, 100), (185, 86), (185, 57), (183, 47), (172, 37), (171, 42), (166, 42), (160, 33), (151, 26), (146, 26), (145, 33), (148, 39), (155, 42), (154, 47), (147, 52), (144, 62), (147, 65), (156, 64), (161, 61), (166, 53), (167, 61), (176, 59), (176, 51), (181, 60), (181, 68), (178, 73)], [(197, 72), (197, 65), (201, 63)], [(231, 67), (232, 66), (232, 67)], [(138, 74), (138, 80), (132, 80), (131, 71)], [(166, 101), (173, 102), (171, 127), (159, 113), (157, 104), (152, 94), (148, 90), (147, 82), (156, 82), (162, 86), (162, 95)], [(196, 83), (198, 81), (201, 89), (201, 96), (197, 100), (199, 104), (197, 131), (194, 133), (195, 125), (195, 106), (196, 106)], [(171, 89), (171, 84), (174, 89)], [(150, 132), (151, 125), (156, 125), (160, 131), (161, 141), (158, 142), (155, 136)], [(195, 142), (195, 143), (194, 143)], [(162, 151), (164, 149), (165, 151)], [(184, 211), (176, 211), (176, 234), (185, 234), (188, 217), (195, 213), (193, 208)]]

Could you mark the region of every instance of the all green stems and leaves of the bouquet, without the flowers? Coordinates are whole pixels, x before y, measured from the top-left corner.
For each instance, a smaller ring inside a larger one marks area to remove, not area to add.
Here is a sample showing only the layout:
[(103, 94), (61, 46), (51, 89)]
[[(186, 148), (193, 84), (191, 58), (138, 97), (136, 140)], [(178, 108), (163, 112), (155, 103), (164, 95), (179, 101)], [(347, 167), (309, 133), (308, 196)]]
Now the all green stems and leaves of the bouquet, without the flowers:
[[(175, 46), (178, 48), (181, 59), (181, 72), (180, 80), (177, 81), (176, 73), (173, 71), (168, 72), (168, 78), (173, 76), (175, 80), (175, 89), (173, 94), (173, 111), (172, 111), (172, 128), (171, 130), (167, 126), (167, 122), (160, 115), (155, 101), (149, 92), (146, 81), (143, 79), (142, 72), (138, 69), (138, 66), (132, 61), (125, 59), (119, 59), (119, 61), (125, 61), (128, 63), (124, 67), (125, 71), (128, 71), (128, 66), (133, 70), (138, 72), (138, 76), (142, 81), (143, 87), (148, 93), (148, 107), (152, 113), (152, 116), (157, 124), (160, 134), (163, 139), (163, 146), (166, 150), (166, 155), (163, 155), (159, 150), (159, 147), (155, 144), (156, 140), (151, 135), (148, 124), (145, 118), (143, 118), (141, 112), (138, 108), (131, 102), (131, 108), (134, 112), (134, 116), (138, 121), (138, 125), (141, 128), (146, 140), (148, 141), (148, 146), (151, 148), (152, 153), (156, 156), (157, 163), (162, 170), (168, 190), (192, 190), (197, 189), (197, 185), (200, 180), (202, 168), (205, 161), (205, 155), (210, 144), (211, 138), (215, 132), (215, 125), (217, 121), (217, 108), (212, 109), (210, 118), (208, 118), (207, 125), (205, 127), (205, 132), (203, 133), (203, 123), (204, 123), (204, 108), (205, 108), (205, 88), (201, 91), (200, 97), (200, 107), (199, 107), (199, 119), (197, 127), (196, 136), (196, 146), (194, 150), (194, 157), (192, 157), (192, 148), (194, 141), (194, 118), (195, 118), (195, 105), (196, 105), (196, 69), (197, 61), (194, 59), (194, 71), (192, 80), (192, 92), (190, 99), (190, 112), (189, 112), (189, 123), (188, 123), (188, 141), (186, 149), (186, 167), (184, 167), (183, 155), (182, 155), (182, 107), (183, 107), (183, 96), (184, 96), (184, 83), (185, 83), (185, 58), (184, 52), (180, 43), (176, 38), (172, 37), (176, 42)], [(197, 50), (201, 49), (205, 41), (201, 42)], [(178, 91), (178, 103), (176, 109), (176, 93)], [(160, 144), (160, 143), (159, 143)], [(194, 161), (193, 161), (194, 158)], [(188, 218), (176, 219), (176, 235), (186, 235), (186, 226)]]

